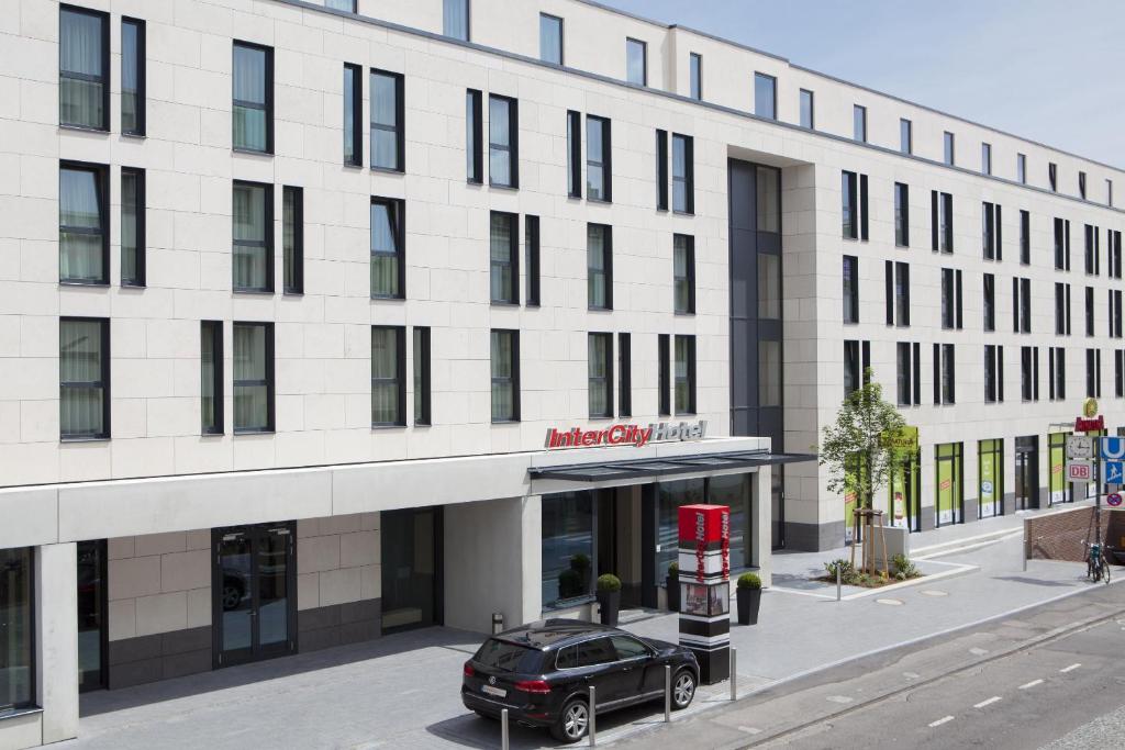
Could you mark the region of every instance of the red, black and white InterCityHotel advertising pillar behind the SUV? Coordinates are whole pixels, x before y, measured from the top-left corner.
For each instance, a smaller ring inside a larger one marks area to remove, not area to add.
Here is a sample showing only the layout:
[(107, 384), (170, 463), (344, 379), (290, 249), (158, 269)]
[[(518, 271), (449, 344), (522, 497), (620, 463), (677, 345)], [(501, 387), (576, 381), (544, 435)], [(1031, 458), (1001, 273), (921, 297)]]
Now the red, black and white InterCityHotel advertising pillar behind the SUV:
[(730, 508), (680, 507), (680, 644), (700, 662), (700, 681), (730, 677)]

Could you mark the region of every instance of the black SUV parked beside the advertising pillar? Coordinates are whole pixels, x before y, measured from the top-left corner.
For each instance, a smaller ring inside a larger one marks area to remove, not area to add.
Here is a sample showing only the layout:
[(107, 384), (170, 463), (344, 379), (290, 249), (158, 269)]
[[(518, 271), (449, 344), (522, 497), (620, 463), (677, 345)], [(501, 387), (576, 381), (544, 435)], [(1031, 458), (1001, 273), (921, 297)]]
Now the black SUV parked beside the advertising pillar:
[(700, 670), (684, 647), (580, 620), (546, 620), (485, 641), (465, 662), (461, 701), (490, 719), (507, 708), (520, 724), (577, 742), (588, 729), (591, 687), (600, 714), (654, 701), (664, 696), (665, 665), (672, 705), (686, 708)]

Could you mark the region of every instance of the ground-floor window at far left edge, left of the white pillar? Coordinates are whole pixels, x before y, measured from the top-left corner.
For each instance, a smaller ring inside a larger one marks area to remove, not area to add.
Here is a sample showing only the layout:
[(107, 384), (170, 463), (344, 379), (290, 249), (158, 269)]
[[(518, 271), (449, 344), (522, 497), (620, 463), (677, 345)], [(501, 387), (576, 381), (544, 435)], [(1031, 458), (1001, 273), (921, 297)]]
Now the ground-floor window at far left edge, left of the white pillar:
[[(0, 550), (0, 643), (3, 665), (0, 675), (0, 716), (36, 703), (35, 659), (35, 548)], [(18, 721), (18, 720), (17, 720)]]

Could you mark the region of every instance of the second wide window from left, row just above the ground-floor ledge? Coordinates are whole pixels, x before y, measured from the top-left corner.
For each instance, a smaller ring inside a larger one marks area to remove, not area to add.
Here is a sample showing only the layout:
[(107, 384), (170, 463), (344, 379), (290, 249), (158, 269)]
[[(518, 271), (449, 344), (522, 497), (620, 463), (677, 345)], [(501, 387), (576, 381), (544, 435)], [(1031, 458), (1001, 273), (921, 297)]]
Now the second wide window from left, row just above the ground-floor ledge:
[(273, 432), (273, 324), (234, 324), (234, 432)]

